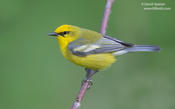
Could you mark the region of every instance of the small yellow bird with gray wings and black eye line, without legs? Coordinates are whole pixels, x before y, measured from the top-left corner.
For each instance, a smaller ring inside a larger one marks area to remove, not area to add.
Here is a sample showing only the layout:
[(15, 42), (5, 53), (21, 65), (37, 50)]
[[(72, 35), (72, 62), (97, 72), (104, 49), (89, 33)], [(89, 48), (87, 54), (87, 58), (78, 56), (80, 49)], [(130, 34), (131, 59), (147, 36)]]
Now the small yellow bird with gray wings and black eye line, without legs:
[(135, 45), (110, 36), (72, 25), (62, 25), (50, 36), (56, 36), (63, 56), (86, 69), (98, 71), (116, 61), (115, 56), (129, 52), (159, 51), (158, 46)]

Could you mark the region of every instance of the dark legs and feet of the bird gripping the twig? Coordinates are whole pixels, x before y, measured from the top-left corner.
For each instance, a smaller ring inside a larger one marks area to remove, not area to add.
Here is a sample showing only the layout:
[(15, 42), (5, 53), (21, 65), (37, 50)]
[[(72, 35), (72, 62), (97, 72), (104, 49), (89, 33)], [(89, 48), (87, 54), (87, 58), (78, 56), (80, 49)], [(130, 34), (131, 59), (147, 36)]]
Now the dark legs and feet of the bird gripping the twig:
[(89, 84), (89, 87), (92, 85), (92, 80), (91, 80), (91, 77), (97, 72), (97, 70), (91, 70), (91, 69), (88, 69), (88, 68), (85, 68), (86, 70), (86, 76), (84, 78), (84, 80), (82, 81), (82, 84), (84, 84), (85, 82), (88, 82)]

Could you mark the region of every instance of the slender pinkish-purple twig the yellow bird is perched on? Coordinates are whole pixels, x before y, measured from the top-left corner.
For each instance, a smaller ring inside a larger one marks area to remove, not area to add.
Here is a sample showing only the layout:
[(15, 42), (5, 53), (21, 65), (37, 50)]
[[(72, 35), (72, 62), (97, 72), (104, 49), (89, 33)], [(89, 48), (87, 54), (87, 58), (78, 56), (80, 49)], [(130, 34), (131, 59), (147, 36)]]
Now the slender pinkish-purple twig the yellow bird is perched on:
[[(106, 0), (106, 7), (105, 7), (104, 16), (103, 16), (103, 20), (102, 20), (102, 24), (101, 24), (101, 29), (100, 29), (100, 33), (102, 35), (105, 35), (105, 33), (106, 33), (106, 28), (107, 28), (107, 24), (108, 24), (109, 15), (110, 15), (110, 10), (111, 10), (113, 2), (114, 2), (114, 0)], [(93, 72), (93, 70), (91, 70), (91, 72)], [(89, 72), (87, 71), (87, 75), (88, 75), (88, 73)], [(93, 74), (94, 73), (95, 72), (93, 72)], [(80, 88), (78, 96), (73, 103), (72, 109), (79, 109), (81, 101), (85, 95), (85, 92), (91, 86), (91, 78), (90, 77), (87, 78), (87, 75), (82, 83), (82, 86)]]

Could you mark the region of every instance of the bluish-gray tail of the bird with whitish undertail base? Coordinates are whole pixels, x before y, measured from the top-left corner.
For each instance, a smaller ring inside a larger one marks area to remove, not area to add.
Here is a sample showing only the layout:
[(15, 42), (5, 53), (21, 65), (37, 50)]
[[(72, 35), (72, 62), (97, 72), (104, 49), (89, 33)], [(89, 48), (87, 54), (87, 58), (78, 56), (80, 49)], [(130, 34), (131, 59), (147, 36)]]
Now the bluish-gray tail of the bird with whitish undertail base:
[(113, 55), (122, 55), (128, 52), (137, 52), (137, 51), (156, 52), (156, 51), (160, 51), (160, 47), (153, 46), (153, 45), (133, 45), (132, 47), (126, 48), (124, 50), (114, 52)]

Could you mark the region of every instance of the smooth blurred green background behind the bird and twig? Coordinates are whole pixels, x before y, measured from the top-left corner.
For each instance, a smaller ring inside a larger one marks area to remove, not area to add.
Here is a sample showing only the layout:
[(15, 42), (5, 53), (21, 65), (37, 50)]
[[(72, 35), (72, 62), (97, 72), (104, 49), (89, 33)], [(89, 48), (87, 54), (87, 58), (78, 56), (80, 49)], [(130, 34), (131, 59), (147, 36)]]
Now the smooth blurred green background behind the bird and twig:
[[(170, 11), (144, 11), (164, 2)], [(84, 69), (63, 58), (47, 34), (62, 24), (99, 31), (105, 0), (0, 1), (0, 109), (70, 109)], [(81, 109), (175, 109), (175, 1), (116, 0), (108, 35), (160, 45), (130, 53), (93, 77)]]

